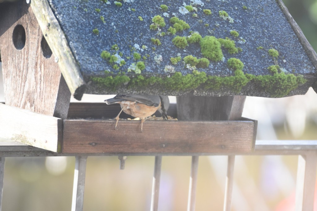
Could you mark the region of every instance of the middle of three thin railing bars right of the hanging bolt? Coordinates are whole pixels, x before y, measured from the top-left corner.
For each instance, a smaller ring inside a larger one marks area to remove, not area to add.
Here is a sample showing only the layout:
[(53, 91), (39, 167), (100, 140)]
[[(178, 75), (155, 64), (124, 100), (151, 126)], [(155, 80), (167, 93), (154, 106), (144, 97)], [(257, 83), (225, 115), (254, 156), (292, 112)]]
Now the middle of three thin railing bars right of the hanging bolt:
[(191, 158), (191, 178), (189, 180), (187, 211), (194, 211), (196, 205), (197, 175), (199, 156)]

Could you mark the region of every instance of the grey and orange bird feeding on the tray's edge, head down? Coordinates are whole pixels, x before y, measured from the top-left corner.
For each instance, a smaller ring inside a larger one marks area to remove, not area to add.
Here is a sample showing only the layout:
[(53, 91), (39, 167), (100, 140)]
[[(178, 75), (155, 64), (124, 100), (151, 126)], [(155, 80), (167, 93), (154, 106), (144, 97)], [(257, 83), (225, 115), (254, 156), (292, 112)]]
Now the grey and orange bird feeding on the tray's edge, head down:
[(121, 106), (121, 111), (115, 117), (116, 125), (114, 129), (117, 128), (119, 116), (122, 111), (128, 115), (139, 117), (141, 119), (141, 132), (143, 132), (143, 122), (145, 121), (144, 118), (151, 116), (157, 110), (162, 114), (164, 120), (168, 119), (166, 113), (170, 104), (168, 96), (116, 95), (111, 99), (105, 100), (105, 102), (107, 105), (119, 103)]

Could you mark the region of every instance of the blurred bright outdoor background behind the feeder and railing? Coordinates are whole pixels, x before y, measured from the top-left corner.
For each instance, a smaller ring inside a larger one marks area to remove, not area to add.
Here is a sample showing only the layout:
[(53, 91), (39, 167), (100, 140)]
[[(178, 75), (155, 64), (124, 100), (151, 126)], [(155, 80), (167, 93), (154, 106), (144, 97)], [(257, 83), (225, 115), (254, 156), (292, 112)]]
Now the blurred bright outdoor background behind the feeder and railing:
[[(317, 50), (317, 0), (284, 3)], [(281, 99), (247, 97), (243, 116), (259, 121), (258, 140), (316, 140), (316, 105), (313, 90)], [(227, 157), (199, 159), (196, 210), (222, 210)], [(6, 158), (5, 165), (3, 211), (70, 210), (74, 157)], [(191, 157), (163, 157), (159, 210), (186, 210), (190, 168)], [(154, 157), (130, 156), (123, 171), (117, 157), (89, 157), (84, 210), (149, 210), (153, 169)], [(232, 210), (294, 210), (296, 169), (297, 156), (237, 156)]]

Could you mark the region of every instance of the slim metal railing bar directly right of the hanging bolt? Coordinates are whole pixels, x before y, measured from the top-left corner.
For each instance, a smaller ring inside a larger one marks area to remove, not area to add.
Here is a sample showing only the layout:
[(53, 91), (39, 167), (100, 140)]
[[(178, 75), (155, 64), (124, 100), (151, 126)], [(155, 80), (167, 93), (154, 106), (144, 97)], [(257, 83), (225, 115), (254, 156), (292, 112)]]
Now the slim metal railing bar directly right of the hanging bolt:
[(157, 211), (159, 208), (159, 186), (161, 180), (162, 156), (155, 156), (154, 175), (152, 183), (151, 211)]

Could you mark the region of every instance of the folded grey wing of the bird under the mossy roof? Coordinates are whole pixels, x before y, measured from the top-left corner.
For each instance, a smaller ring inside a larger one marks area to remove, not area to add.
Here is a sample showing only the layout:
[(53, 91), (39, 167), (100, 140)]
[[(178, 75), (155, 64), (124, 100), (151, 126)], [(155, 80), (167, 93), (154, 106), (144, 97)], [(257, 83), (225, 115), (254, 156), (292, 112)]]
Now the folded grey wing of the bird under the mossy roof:
[(154, 107), (158, 107), (160, 103), (158, 95), (117, 95), (115, 98), (136, 101)]

